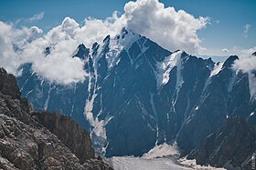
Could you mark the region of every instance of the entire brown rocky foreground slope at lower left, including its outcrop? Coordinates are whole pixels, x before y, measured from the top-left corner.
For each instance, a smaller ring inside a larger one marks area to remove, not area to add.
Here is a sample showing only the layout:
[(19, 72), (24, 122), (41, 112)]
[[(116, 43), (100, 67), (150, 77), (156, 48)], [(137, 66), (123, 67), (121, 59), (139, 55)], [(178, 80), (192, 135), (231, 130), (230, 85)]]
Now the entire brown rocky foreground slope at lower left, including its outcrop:
[(0, 169), (112, 169), (69, 117), (37, 113), (0, 68)]

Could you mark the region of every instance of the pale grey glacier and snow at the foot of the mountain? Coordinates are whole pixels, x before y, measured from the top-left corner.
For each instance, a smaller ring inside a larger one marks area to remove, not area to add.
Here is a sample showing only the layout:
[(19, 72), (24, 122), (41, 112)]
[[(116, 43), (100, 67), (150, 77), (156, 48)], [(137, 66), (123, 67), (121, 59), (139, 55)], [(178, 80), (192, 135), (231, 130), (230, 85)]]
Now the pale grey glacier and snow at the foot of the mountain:
[(174, 145), (155, 145), (142, 157), (113, 156), (109, 160), (114, 170), (225, 170), (196, 164), (196, 160), (177, 159), (178, 148)]

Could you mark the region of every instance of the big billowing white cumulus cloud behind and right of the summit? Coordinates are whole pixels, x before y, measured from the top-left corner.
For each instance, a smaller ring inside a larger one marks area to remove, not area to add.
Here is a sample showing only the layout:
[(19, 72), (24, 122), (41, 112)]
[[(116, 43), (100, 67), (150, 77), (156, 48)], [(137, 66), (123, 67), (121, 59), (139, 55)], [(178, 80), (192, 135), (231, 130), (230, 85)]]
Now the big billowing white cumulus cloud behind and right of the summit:
[(138, 0), (124, 6), (127, 27), (159, 45), (175, 51), (198, 53), (203, 50), (197, 31), (208, 24), (208, 17), (195, 18), (186, 11), (165, 7), (157, 0)]

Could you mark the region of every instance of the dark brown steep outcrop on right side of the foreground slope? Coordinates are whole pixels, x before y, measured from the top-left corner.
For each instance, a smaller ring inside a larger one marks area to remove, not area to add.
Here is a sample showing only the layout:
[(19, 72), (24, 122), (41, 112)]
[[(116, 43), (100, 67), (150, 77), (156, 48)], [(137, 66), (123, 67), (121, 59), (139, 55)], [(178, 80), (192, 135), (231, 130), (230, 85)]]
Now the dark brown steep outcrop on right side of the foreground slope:
[(90, 136), (70, 117), (45, 112), (38, 114), (37, 117), (40, 124), (57, 135), (59, 140), (78, 156), (80, 163), (94, 157), (95, 152), (91, 147)]

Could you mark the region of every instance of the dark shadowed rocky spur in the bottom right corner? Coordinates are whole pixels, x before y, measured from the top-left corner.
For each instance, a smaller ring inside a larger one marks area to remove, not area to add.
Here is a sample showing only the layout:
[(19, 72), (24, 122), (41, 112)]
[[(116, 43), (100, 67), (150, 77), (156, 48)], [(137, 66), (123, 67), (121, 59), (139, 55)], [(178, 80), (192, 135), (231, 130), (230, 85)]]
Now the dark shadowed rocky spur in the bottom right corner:
[[(241, 169), (251, 169), (251, 159), (256, 152), (256, 128), (248, 125), (240, 116), (229, 117), (216, 133), (208, 135), (202, 145), (187, 158), (197, 164)], [(254, 158), (255, 161), (255, 158)]]

